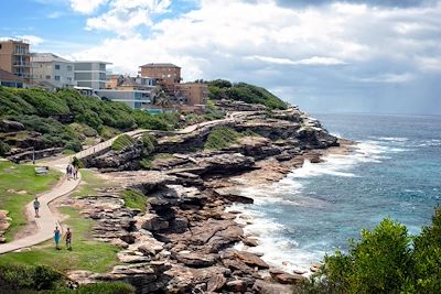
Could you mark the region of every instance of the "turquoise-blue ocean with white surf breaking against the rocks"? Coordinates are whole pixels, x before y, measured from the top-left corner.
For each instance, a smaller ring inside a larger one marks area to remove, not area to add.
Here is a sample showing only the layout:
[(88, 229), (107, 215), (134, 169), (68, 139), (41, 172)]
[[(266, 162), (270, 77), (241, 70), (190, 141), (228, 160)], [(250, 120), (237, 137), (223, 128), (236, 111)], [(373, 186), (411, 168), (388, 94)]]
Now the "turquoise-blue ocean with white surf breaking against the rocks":
[[(419, 233), (441, 204), (441, 116), (312, 115), (332, 134), (357, 141), (348, 155), (293, 170), (265, 188), (247, 187), (254, 205), (235, 205), (250, 251), (287, 271), (309, 269), (348, 239), (390, 217)], [(238, 246), (240, 247), (240, 246)]]

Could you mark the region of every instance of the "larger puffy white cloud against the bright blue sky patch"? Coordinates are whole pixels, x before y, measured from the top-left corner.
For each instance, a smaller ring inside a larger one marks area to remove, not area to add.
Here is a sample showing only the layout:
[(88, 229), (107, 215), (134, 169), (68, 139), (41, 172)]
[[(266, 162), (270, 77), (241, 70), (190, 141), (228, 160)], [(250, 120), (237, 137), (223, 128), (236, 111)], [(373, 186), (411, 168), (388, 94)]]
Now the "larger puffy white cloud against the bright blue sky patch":
[(133, 29), (151, 25), (151, 14), (164, 13), (170, 4), (171, 0), (114, 0), (109, 11), (87, 20), (86, 29), (132, 35)]

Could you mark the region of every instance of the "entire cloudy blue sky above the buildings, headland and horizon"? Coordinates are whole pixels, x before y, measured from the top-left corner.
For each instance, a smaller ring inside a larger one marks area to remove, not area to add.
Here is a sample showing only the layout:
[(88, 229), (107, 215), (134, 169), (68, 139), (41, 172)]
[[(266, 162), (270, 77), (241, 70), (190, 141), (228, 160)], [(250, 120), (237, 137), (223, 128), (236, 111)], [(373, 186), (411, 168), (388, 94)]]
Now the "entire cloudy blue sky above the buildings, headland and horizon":
[(310, 112), (441, 115), (441, 0), (0, 0), (0, 37), (119, 74), (174, 63)]

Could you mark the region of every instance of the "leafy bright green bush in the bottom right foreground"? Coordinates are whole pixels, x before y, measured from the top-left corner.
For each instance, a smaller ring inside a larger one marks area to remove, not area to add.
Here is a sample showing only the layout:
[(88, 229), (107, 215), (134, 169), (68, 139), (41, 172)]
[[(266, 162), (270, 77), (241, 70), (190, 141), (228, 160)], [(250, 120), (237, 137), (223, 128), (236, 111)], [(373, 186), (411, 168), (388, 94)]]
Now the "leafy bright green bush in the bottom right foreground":
[(324, 266), (294, 293), (441, 293), (441, 208), (421, 233), (389, 218), (362, 230), (347, 253), (324, 258)]

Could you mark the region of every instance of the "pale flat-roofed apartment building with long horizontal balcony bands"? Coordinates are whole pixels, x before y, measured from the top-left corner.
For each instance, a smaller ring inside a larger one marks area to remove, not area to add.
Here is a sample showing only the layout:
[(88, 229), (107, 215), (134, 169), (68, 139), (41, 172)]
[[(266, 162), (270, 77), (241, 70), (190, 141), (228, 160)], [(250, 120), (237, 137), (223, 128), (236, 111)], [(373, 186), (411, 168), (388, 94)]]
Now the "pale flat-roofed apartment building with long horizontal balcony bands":
[(80, 88), (105, 89), (106, 88), (106, 66), (110, 63), (92, 61), (75, 62), (74, 79)]

